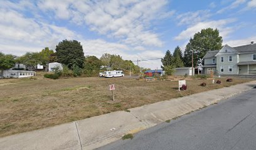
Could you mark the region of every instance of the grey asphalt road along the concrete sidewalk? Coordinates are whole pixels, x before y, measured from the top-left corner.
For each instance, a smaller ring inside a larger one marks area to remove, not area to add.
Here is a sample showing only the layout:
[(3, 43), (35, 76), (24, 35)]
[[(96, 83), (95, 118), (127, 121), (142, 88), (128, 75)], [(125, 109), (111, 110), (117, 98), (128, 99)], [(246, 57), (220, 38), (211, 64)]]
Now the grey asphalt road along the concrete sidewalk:
[(256, 89), (99, 149), (256, 149)]

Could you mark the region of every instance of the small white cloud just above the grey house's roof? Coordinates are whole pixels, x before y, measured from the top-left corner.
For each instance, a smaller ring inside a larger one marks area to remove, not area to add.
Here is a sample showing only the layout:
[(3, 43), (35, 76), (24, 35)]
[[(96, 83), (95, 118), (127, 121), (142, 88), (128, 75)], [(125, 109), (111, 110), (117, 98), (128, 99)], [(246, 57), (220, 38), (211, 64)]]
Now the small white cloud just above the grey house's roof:
[(228, 44), (229, 46), (235, 47), (235, 46), (242, 46), (242, 45), (250, 44), (251, 41), (256, 43), (256, 36), (248, 37), (247, 39), (227, 40), (227, 41), (223, 41), (223, 44)]

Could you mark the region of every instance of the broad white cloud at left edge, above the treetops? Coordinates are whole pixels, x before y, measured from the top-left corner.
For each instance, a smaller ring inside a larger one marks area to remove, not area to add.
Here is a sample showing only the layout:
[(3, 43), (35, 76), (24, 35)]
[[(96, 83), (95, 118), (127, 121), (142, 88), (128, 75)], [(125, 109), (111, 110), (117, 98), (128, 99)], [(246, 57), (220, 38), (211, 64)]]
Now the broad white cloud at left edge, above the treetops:
[(10, 9), (0, 8), (0, 20), (0, 51), (4, 53), (12, 51), (20, 55), (25, 51), (40, 51), (44, 47), (55, 48), (63, 39), (80, 38), (65, 27), (45, 24)]

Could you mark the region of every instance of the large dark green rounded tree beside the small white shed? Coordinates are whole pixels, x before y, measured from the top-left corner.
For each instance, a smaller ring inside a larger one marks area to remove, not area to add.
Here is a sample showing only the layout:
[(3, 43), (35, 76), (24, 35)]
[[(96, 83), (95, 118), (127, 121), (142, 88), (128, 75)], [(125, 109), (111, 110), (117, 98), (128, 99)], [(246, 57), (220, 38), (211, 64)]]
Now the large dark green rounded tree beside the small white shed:
[(83, 47), (80, 42), (67, 39), (61, 41), (56, 46), (56, 56), (59, 63), (65, 64), (68, 68), (78, 66), (83, 68), (85, 56), (83, 53)]

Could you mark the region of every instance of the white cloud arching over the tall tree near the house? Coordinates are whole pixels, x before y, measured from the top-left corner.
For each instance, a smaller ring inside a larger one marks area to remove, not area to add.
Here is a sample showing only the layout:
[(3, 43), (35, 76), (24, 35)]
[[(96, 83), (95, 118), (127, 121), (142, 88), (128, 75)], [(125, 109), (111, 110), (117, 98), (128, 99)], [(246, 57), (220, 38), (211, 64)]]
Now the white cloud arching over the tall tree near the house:
[(201, 29), (206, 29), (211, 27), (213, 29), (217, 28), (220, 31), (220, 36), (228, 36), (230, 32), (232, 32), (232, 27), (226, 27), (227, 24), (234, 22), (235, 19), (221, 19), (218, 21), (205, 21), (198, 22), (197, 24), (188, 27), (188, 29), (182, 31), (178, 36), (174, 37), (176, 40), (189, 39), (193, 37), (196, 32), (200, 32)]

